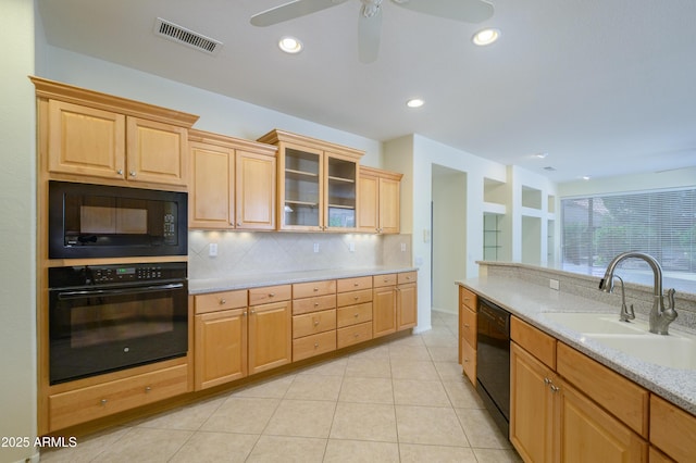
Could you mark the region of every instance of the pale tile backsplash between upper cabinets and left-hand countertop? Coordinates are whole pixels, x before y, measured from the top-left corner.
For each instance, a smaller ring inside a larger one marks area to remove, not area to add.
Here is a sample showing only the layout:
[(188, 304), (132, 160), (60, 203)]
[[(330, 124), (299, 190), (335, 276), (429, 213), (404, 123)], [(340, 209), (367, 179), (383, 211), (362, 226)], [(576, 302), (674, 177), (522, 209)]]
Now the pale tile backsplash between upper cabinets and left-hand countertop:
[[(217, 255), (210, 255), (210, 245), (216, 245)], [(188, 234), (190, 279), (335, 268), (407, 267), (411, 262), (411, 235), (209, 230)]]

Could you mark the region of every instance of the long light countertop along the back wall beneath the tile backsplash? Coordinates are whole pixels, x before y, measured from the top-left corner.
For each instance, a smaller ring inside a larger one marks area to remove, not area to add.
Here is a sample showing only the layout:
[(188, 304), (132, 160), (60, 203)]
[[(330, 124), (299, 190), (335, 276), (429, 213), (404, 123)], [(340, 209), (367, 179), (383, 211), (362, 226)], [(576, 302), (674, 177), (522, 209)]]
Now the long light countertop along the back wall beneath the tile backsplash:
[(353, 278), (358, 276), (384, 275), (388, 273), (415, 272), (415, 267), (364, 267), (334, 268), (319, 271), (277, 272), (257, 275), (234, 276), (228, 278), (194, 278), (188, 280), (190, 295), (232, 291), (235, 289), (260, 288), (263, 286), (291, 285), (321, 279)]

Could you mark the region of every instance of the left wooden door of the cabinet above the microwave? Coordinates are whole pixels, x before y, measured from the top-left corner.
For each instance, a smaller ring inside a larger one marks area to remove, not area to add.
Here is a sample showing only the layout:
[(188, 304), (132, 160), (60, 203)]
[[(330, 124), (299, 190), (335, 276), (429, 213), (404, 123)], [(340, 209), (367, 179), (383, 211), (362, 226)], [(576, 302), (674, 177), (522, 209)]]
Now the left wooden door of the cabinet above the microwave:
[(124, 178), (123, 114), (50, 100), (48, 120), (50, 172)]

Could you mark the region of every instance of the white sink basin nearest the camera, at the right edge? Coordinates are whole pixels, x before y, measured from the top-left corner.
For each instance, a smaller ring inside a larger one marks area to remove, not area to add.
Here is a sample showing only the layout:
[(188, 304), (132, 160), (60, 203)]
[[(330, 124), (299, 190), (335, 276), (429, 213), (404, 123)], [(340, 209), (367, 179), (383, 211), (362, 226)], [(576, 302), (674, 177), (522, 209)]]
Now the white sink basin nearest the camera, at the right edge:
[(645, 336), (586, 334), (584, 338), (593, 339), (644, 362), (670, 368), (696, 370), (696, 337), (648, 333)]

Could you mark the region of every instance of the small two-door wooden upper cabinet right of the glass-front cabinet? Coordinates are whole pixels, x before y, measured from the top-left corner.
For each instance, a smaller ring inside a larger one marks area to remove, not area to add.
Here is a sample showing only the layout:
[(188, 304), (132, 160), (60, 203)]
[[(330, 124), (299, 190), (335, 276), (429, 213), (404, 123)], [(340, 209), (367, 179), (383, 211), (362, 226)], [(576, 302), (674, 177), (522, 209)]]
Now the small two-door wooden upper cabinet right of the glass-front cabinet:
[(359, 190), (360, 232), (398, 234), (402, 174), (361, 167)]

